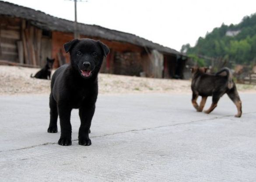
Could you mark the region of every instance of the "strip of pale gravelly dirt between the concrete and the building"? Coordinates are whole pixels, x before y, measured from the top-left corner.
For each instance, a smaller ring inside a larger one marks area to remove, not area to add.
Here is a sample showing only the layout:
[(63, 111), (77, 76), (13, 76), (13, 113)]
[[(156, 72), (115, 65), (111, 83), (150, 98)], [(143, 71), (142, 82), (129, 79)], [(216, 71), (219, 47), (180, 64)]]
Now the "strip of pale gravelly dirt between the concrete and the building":
[[(0, 95), (49, 94), (50, 81), (31, 78), (39, 69), (0, 66)], [(100, 73), (99, 94), (169, 93), (190, 94), (187, 80), (155, 79)], [(256, 85), (238, 84), (239, 92), (255, 92)]]

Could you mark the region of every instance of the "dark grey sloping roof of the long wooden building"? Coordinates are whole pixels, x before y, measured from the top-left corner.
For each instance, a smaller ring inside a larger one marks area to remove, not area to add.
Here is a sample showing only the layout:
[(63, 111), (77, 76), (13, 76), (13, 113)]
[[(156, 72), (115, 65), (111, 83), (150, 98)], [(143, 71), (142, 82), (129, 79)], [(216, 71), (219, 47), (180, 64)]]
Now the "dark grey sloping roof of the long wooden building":
[[(34, 9), (28, 7), (19, 6), (17, 4), (12, 4), (4, 1), (0, 1), (0, 15), (24, 18), (31, 21), (33, 25), (47, 30), (74, 32), (74, 21), (56, 18), (49, 14), (45, 14), (42, 11), (35, 11)], [(156, 49), (163, 53), (181, 55), (181, 53), (176, 51), (175, 49), (159, 45), (145, 38), (141, 38), (137, 35), (133, 35), (130, 33), (111, 30), (98, 25), (86, 25), (79, 23), (78, 26), (79, 33), (81, 35), (104, 38), (107, 40), (118, 42), (128, 42), (141, 47)]]

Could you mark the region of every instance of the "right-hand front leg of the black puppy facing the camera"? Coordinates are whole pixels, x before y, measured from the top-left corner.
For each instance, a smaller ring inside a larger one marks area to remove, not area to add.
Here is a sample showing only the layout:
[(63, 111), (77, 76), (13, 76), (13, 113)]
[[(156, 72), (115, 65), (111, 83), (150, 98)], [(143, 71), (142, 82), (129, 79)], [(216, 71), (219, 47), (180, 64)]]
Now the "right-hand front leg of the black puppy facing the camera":
[(79, 128), (78, 134), (78, 144), (89, 146), (91, 145), (91, 140), (89, 138), (89, 130), (91, 127), (91, 119), (95, 112), (95, 104), (93, 105), (83, 105), (79, 109), (79, 116), (81, 120), (81, 126)]

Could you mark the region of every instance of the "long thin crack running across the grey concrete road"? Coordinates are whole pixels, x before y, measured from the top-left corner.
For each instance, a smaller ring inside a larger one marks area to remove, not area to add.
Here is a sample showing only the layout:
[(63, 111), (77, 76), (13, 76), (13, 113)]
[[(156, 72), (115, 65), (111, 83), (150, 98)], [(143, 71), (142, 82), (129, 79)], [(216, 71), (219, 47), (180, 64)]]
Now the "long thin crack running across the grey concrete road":
[[(253, 113), (256, 113), (256, 112), (246, 112), (246, 113), (243, 113), (242, 115), (253, 114)], [(231, 116), (233, 116), (233, 115), (214, 117), (214, 118), (210, 118), (210, 119), (200, 119), (200, 120), (196, 120), (196, 121), (190, 121), (190, 122), (187, 122), (187, 123), (176, 123), (176, 124), (170, 124), (170, 125), (165, 125), (165, 126), (156, 126), (156, 127), (144, 128), (144, 129), (140, 129), (140, 130), (129, 130), (129, 131), (123, 131), (123, 132), (116, 132), (116, 133), (110, 133), (110, 134), (95, 136), (95, 137), (91, 137), (91, 138), (106, 137), (106, 136), (112, 136), (112, 135), (117, 135), (117, 134), (122, 134), (122, 133), (129, 133), (129, 132), (134, 132), (134, 131), (152, 130), (152, 129), (164, 128), (164, 127), (169, 127), (169, 126), (179, 126), (179, 125), (186, 125), (186, 124), (191, 124), (191, 123), (199, 123), (199, 122), (202, 122), (202, 121), (211, 121), (211, 120), (214, 120), (214, 119), (222, 119), (222, 118), (227, 118), (227, 117), (231, 117)], [(237, 121), (235, 119), (230, 119), (230, 120)], [(72, 142), (73, 141), (77, 141), (77, 140), (72, 140)], [(31, 148), (35, 148), (35, 147), (41, 147), (41, 146), (44, 146), (44, 145), (53, 145), (53, 144), (58, 144), (58, 143), (38, 144), (38, 145), (34, 145), (34, 146), (29, 146), (29, 147), (24, 147), (24, 148), (19, 148), (19, 149), (11, 149), (11, 150), (0, 151), (0, 152), (20, 151), (20, 150), (31, 149)]]

